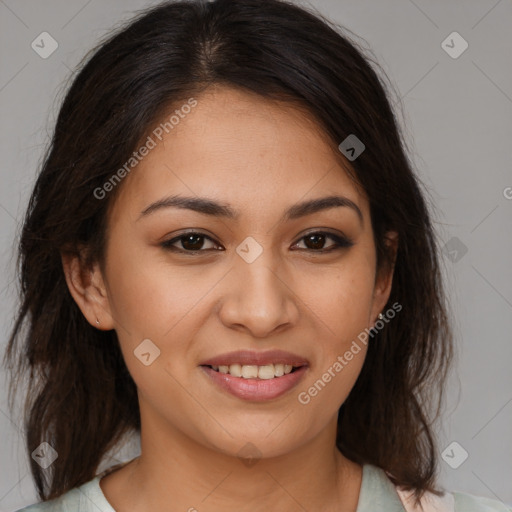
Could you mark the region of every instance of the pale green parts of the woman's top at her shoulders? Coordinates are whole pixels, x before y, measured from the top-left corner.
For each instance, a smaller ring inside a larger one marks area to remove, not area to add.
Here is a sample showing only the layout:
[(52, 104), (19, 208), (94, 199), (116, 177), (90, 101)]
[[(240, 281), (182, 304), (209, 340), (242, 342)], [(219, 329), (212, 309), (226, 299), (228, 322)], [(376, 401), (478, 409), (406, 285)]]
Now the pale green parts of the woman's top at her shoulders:
[[(108, 470), (107, 470), (108, 471)], [(115, 512), (99, 485), (102, 474), (71, 489), (59, 498), (36, 503), (16, 512)], [(500, 501), (454, 492), (456, 512), (512, 512)], [(357, 512), (404, 512), (395, 486), (386, 473), (369, 464), (363, 466), (363, 477)]]

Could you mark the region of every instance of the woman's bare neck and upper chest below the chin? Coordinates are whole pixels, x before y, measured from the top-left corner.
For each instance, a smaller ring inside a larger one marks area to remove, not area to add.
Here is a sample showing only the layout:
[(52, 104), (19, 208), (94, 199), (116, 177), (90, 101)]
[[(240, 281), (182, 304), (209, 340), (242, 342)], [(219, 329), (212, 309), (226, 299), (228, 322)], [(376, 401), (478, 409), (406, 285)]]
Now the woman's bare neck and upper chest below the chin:
[(248, 503), (254, 512), (355, 512), (362, 468), (339, 452), (335, 433), (333, 419), (328, 431), (293, 452), (268, 458), (247, 445), (253, 458), (241, 460), (180, 432), (143, 428), (140, 457), (104, 477), (101, 486), (118, 512), (226, 512)]

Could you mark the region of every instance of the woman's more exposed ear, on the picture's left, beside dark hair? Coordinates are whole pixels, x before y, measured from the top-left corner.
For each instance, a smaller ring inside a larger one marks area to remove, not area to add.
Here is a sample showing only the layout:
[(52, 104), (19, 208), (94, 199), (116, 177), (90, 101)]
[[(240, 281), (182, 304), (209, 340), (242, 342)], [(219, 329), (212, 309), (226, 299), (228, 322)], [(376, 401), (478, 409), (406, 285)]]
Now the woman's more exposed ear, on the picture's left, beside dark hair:
[(69, 292), (87, 321), (97, 329), (113, 329), (110, 303), (99, 263), (86, 266), (82, 251), (78, 254), (61, 253), (61, 260)]

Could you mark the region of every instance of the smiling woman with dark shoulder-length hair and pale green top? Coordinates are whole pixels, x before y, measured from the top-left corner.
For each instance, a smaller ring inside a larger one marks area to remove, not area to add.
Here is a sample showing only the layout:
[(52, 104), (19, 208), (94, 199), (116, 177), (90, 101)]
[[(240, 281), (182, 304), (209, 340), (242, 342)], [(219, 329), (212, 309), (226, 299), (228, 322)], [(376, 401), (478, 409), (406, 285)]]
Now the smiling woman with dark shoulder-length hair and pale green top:
[(103, 42), (21, 237), (23, 510), (507, 510), (436, 483), (453, 347), (403, 148), (369, 59), (291, 3), (163, 3)]

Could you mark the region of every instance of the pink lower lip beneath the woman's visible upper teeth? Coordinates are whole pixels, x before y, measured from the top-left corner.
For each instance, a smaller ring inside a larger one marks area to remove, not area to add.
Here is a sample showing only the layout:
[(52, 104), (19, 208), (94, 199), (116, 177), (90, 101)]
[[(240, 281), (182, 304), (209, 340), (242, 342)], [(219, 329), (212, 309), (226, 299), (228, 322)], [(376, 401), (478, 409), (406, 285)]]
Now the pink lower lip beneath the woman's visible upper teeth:
[(273, 379), (244, 379), (234, 377), (229, 373), (216, 372), (209, 366), (200, 367), (212, 381), (221, 389), (232, 395), (249, 401), (265, 401), (278, 398), (293, 387), (304, 377), (307, 366), (301, 366), (292, 373)]

